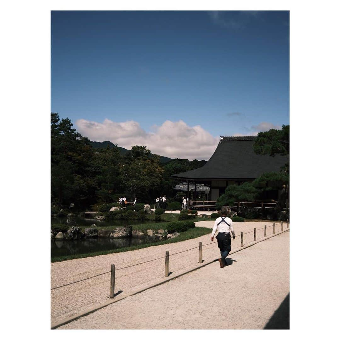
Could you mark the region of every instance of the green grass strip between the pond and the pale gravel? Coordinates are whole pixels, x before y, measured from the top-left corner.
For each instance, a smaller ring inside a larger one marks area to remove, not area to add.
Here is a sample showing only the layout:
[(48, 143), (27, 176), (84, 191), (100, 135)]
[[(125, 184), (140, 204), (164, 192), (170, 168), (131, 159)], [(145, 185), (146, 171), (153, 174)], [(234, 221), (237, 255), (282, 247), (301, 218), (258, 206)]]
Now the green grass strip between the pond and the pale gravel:
[[(164, 224), (164, 226), (163, 227), (160, 226), (161, 224)], [(165, 229), (165, 225), (167, 225), (167, 224), (168, 223), (157, 223), (157, 229)], [(153, 224), (152, 226), (155, 226), (155, 224)], [(141, 227), (145, 228), (146, 224), (142, 224)], [(152, 227), (146, 227), (146, 228), (147, 229), (153, 229)], [(136, 226), (134, 226), (134, 229), (137, 229)], [(139, 230), (143, 230), (143, 229), (140, 228)], [(106, 250), (106, 251), (95, 252), (95, 253), (74, 254), (74, 255), (53, 257), (53, 258), (51, 258), (51, 262), (60, 262), (60, 261), (64, 261), (64, 260), (71, 260), (71, 259), (74, 259), (74, 258), (84, 258), (84, 257), (90, 257), (90, 256), (121, 253), (121, 252), (130, 251), (130, 250), (136, 250), (136, 249), (142, 249), (142, 248), (157, 246), (157, 245), (160, 245), (160, 244), (181, 242), (181, 241), (188, 240), (188, 239), (191, 239), (191, 238), (196, 238), (196, 237), (200, 237), (200, 236), (203, 236), (203, 235), (210, 234), (211, 231), (212, 231), (212, 229), (210, 229), (210, 228), (191, 228), (191, 229), (188, 229), (186, 232), (181, 232), (178, 237), (173, 238), (173, 239), (169, 239), (169, 240), (133, 245), (133, 246), (129, 246), (129, 247)]]

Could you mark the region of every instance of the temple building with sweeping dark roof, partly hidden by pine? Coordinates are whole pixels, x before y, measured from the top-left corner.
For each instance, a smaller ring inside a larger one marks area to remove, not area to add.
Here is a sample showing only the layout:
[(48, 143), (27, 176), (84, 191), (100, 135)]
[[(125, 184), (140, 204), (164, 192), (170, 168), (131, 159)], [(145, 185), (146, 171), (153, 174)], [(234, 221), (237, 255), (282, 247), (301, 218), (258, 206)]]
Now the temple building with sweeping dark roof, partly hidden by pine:
[[(172, 175), (187, 186), (187, 197), (195, 200), (197, 185), (208, 186), (210, 191), (207, 201), (216, 201), (225, 188), (231, 184), (251, 182), (266, 172), (279, 172), (287, 162), (282, 155), (257, 155), (254, 152), (254, 141), (257, 136), (221, 137), (214, 154), (201, 168)], [(193, 197), (190, 185), (194, 185)], [(267, 199), (277, 199), (278, 192), (268, 192)]]

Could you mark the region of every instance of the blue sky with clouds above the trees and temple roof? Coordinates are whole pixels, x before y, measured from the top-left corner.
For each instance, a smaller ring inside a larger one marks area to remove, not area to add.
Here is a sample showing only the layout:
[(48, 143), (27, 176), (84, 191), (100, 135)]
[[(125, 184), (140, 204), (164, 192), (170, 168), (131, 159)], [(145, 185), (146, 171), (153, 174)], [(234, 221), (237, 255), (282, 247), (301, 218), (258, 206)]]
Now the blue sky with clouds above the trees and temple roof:
[(289, 12), (52, 11), (51, 111), (91, 140), (208, 158), (219, 135), (289, 124)]

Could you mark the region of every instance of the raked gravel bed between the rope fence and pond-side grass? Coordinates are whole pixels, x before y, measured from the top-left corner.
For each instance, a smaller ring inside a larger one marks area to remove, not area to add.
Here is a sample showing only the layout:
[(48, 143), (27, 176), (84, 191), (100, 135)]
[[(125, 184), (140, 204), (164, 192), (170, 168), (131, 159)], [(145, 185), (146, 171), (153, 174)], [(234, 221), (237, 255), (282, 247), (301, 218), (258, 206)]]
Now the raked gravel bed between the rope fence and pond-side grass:
[[(214, 221), (196, 222), (196, 226), (212, 228)], [(244, 245), (253, 241), (254, 227), (257, 228), (257, 240), (263, 238), (263, 222), (234, 223), (236, 235), (244, 233)], [(269, 223), (267, 222), (267, 226)], [(286, 225), (284, 224), (284, 230)], [(280, 225), (276, 226), (276, 232), (280, 231)], [(249, 234), (245, 234), (249, 232)], [(267, 228), (267, 236), (273, 234), (273, 227)], [(198, 246), (198, 242), (208, 244), (203, 246), (203, 259), (210, 260), (220, 256), (216, 243), (209, 240), (210, 235), (190, 239), (182, 242), (155, 245), (139, 250), (100, 255), (81, 259), (73, 259), (51, 263), (51, 288), (65, 285), (70, 282), (110, 271), (111, 264), (116, 266), (115, 292), (129, 293), (144, 287), (147, 284), (164, 277), (164, 262), (161, 258), (142, 265), (121, 269), (140, 262), (164, 257), (169, 251), (169, 271), (176, 274), (184, 269), (189, 269), (198, 264), (198, 249), (193, 249), (177, 255), (171, 255), (183, 250)], [(275, 238), (274, 238), (275, 239)], [(215, 240), (214, 240), (215, 242)], [(266, 242), (261, 242), (266, 243)], [(232, 250), (240, 248), (240, 237), (232, 241)], [(252, 247), (251, 247), (252, 248)], [(242, 252), (240, 252), (242, 253)], [(222, 269), (221, 269), (222, 270)], [(108, 301), (110, 273), (81, 281), (69, 286), (51, 290), (51, 323), (59, 322), (67, 317), (84, 311), (91, 306)], [(162, 285), (163, 286), (163, 285)], [(126, 299), (125, 299), (126, 300)], [(124, 301), (125, 301), (124, 300)], [(92, 315), (92, 314), (91, 314)], [(170, 327), (171, 328), (171, 327)]]

